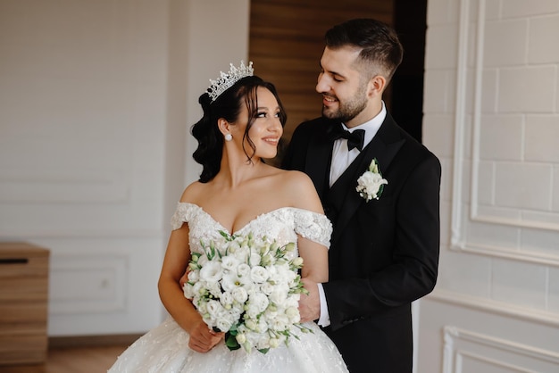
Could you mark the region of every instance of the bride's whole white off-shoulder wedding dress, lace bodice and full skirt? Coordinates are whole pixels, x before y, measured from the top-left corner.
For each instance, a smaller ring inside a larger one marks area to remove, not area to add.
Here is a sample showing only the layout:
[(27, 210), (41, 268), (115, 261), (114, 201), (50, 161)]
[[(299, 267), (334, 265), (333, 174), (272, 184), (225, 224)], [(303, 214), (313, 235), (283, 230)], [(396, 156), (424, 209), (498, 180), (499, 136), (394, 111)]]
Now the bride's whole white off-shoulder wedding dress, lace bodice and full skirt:
[[(188, 223), (190, 250), (203, 253), (201, 240), (219, 239), (219, 231), (227, 232), (207, 212), (192, 203), (179, 203), (171, 225), (178, 229)], [(280, 245), (296, 242), (297, 234), (327, 247), (330, 246), (330, 220), (313, 211), (284, 207), (263, 213), (234, 232), (235, 235), (268, 236)], [(231, 233), (231, 232), (227, 232)], [(298, 253), (294, 253), (298, 255)], [(336, 346), (314, 323), (305, 327), (313, 333), (294, 332), (300, 339), (289, 338), (288, 345), (281, 344), (263, 354), (239, 349), (229, 351), (224, 342), (206, 353), (188, 348), (188, 333), (170, 317), (121, 354), (111, 373), (186, 373), (186, 372), (347, 372)]]

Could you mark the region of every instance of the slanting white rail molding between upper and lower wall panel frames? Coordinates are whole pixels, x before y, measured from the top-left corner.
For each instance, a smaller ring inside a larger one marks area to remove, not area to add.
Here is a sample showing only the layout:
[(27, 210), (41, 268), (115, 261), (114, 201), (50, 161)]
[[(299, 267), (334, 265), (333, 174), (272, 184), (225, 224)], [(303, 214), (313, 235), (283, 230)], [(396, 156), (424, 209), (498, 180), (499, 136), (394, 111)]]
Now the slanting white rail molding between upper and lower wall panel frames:
[(549, 311), (521, 307), (517, 304), (498, 302), (479, 296), (455, 293), (448, 290), (435, 289), (426, 295), (426, 301), (447, 303), (459, 307), (467, 307), (476, 311), (490, 312), (508, 318), (522, 319), (538, 324), (559, 327), (559, 314)]

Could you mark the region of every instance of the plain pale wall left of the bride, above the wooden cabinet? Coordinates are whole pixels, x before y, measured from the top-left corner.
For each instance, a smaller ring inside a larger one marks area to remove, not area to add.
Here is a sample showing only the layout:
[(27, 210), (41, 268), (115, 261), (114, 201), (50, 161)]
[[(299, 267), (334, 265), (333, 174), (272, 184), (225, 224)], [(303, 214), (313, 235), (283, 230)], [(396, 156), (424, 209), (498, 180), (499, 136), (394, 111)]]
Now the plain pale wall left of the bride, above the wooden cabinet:
[(248, 0), (0, 0), (0, 240), (51, 250), (50, 336), (143, 332), (188, 128)]

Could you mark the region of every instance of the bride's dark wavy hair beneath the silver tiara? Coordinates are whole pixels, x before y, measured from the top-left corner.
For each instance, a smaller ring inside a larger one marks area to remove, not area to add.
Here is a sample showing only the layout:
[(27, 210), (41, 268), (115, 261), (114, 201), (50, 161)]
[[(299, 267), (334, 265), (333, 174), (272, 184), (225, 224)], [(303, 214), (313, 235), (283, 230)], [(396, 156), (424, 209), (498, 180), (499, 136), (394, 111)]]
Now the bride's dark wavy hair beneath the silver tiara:
[[(276, 97), (278, 105), (280, 106), (281, 126), (285, 126), (288, 118), (281, 104), (276, 87), (257, 76), (239, 79), (213, 102), (207, 92), (204, 92), (204, 94), (200, 95), (198, 98), (198, 103), (202, 105), (204, 116), (192, 126), (190, 132), (198, 141), (198, 147), (193, 157), (196, 162), (203, 166), (202, 173), (200, 174), (200, 182), (207, 183), (212, 180), (220, 170), (224, 140), (217, 126), (217, 121), (220, 118), (227, 120), (229, 123), (237, 121), (243, 105), (246, 105), (248, 110), (248, 123), (246, 123), (245, 134), (243, 135), (243, 150), (246, 154), (246, 161), (252, 162), (256, 147), (252, 139), (248, 136), (248, 131), (253, 126), (254, 120), (258, 114), (258, 100), (256, 96), (256, 89), (258, 87), (268, 89), (271, 94)], [(251, 147), (251, 153), (246, 152), (245, 139)]]

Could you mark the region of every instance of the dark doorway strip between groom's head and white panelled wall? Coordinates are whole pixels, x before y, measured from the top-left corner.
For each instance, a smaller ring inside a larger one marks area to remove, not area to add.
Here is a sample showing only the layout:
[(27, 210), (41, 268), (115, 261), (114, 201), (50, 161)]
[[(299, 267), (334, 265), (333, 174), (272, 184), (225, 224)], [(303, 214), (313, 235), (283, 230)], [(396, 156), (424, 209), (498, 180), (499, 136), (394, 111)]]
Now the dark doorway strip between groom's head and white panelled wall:
[(427, 0), (395, 0), (394, 28), (404, 61), (392, 79), (391, 113), (398, 125), (421, 142)]

